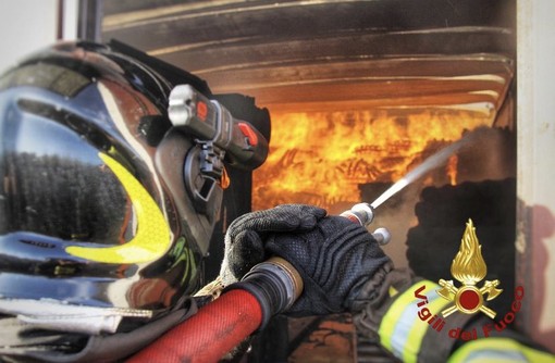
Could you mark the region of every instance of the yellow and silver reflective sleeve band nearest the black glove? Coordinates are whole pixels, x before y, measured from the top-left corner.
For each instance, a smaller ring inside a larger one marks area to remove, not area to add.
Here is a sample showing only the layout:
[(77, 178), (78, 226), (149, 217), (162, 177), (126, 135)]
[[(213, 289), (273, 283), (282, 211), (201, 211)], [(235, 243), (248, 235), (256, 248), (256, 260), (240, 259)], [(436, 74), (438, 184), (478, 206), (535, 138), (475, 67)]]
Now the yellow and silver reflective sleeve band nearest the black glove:
[[(418, 306), (420, 300), (415, 298), (415, 291), (422, 285), (425, 285), (425, 288), (419, 293), (425, 295), (428, 302)], [(430, 328), (427, 322), (419, 318), (418, 312), (427, 308), (433, 316), (448, 303), (445, 299), (440, 299), (435, 292), (437, 288), (440, 286), (435, 283), (419, 281), (397, 297), (383, 316), (379, 329), (382, 345), (404, 362), (417, 362), (420, 345)]]

